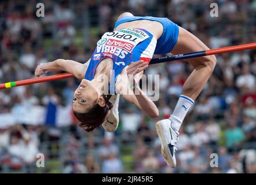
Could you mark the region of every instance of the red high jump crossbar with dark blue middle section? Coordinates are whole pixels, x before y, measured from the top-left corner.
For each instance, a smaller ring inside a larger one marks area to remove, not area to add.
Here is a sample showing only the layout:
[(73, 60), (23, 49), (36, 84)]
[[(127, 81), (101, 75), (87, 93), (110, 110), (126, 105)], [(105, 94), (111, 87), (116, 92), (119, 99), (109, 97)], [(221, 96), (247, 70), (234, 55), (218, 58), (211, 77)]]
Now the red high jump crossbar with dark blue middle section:
[[(211, 49), (211, 50), (196, 51), (196, 52), (193, 52), (193, 53), (176, 54), (176, 55), (173, 55), (173, 56), (153, 58), (150, 61), (149, 65), (159, 64), (159, 63), (167, 62), (167, 61), (184, 60), (186, 58), (203, 57), (203, 56), (210, 56), (210, 55), (213, 55), (213, 54), (229, 53), (229, 52), (233, 52), (233, 51), (241, 51), (241, 50), (249, 50), (249, 49), (256, 49), (256, 42), (247, 43), (247, 44), (244, 44), (244, 45), (220, 47), (220, 48)], [(67, 79), (67, 78), (70, 78), (70, 77), (74, 77), (74, 75), (72, 75), (70, 73), (60, 73), (60, 74), (57, 74), (57, 75), (35, 77), (33, 79), (26, 79), (26, 80), (19, 80), (19, 81), (16, 81), (16, 82), (2, 83), (2, 84), (0, 84), (0, 89), (10, 88), (10, 87), (17, 87), (17, 86), (25, 86), (25, 85), (29, 85), (29, 84), (48, 82), (48, 81), (52, 81), (52, 80)]]

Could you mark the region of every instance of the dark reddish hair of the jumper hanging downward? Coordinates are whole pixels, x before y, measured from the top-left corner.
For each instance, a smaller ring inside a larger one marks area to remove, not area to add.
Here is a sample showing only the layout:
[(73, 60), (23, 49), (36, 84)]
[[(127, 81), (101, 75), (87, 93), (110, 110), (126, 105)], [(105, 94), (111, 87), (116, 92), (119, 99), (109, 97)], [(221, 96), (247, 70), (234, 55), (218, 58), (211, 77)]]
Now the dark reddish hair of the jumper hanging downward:
[(79, 126), (87, 132), (93, 131), (93, 129), (103, 124), (108, 110), (111, 110), (113, 107), (112, 103), (109, 102), (111, 95), (103, 95), (103, 97), (105, 99), (105, 106), (103, 107), (96, 104), (86, 113), (74, 111), (74, 115), (79, 121)]

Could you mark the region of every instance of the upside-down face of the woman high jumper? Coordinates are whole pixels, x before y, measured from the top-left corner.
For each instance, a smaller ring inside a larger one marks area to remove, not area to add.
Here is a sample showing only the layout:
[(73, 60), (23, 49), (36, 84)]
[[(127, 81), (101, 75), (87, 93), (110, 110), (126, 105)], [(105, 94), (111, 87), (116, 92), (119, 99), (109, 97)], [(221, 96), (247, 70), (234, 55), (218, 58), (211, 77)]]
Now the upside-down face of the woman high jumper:
[(98, 97), (92, 82), (83, 79), (74, 93), (73, 110), (78, 113), (86, 113), (98, 102)]

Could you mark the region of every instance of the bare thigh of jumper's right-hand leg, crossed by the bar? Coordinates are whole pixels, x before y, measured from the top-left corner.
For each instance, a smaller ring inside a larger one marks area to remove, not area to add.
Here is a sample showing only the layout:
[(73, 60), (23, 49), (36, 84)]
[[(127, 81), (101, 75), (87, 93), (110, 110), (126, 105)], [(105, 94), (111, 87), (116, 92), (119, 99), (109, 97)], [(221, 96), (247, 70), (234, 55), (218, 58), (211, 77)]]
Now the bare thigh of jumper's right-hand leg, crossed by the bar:
[[(181, 53), (192, 53), (195, 51), (209, 50), (209, 47), (204, 45), (204, 43), (197, 38), (191, 32), (186, 31), (186, 29), (179, 27), (178, 40), (173, 50), (172, 54), (181, 54)], [(186, 59), (191, 65), (198, 66), (201, 65), (204, 61), (209, 61), (209, 56), (196, 57)]]

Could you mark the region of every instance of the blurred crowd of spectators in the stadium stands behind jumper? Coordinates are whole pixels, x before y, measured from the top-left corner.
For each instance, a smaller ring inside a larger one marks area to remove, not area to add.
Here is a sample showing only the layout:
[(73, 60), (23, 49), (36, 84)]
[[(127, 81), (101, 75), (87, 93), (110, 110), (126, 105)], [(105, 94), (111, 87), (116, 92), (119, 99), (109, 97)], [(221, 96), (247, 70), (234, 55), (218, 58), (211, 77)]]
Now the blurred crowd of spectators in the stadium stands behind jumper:
[[(45, 17), (36, 17), (38, 2)], [(210, 48), (256, 42), (255, 0), (217, 0), (218, 17), (210, 16), (211, 2), (1, 1), (0, 83), (32, 78), (36, 65), (57, 58), (87, 61), (122, 12), (168, 17)], [(256, 173), (256, 50), (216, 57), (215, 71), (181, 127), (177, 168), (168, 168), (160, 154), (155, 123), (174, 109), (192, 71), (185, 61), (149, 66), (145, 73), (160, 77), (154, 83), (159, 118), (149, 119), (120, 99), (114, 134), (103, 128), (88, 134), (76, 126), (76, 79), (1, 90), (0, 172)], [(44, 168), (36, 166), (39, 153)]]

